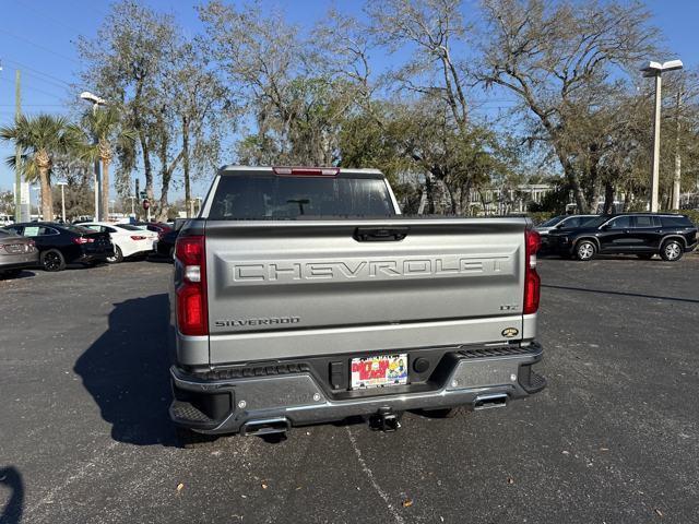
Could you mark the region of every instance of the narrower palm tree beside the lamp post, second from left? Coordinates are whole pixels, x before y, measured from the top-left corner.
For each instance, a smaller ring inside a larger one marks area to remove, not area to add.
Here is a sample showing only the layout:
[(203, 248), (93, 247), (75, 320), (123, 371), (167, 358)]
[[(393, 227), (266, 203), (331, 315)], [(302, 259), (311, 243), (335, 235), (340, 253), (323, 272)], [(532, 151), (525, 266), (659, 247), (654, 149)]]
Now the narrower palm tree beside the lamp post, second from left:
[(83, 124), (96, 141), (95, 144), (84, 148), (83, 157), (91, 160), (98, 159), (102, 163), (102, 202), (99, 207), (106, 219), (109, 210), (109, 166), (114, 158), (115, 145), (118, 147), (128, 146), (129, 142), (135, 140), (135, 133), (123, 128), (121, 115), (115, 106), (86, 112), (83, 117)]

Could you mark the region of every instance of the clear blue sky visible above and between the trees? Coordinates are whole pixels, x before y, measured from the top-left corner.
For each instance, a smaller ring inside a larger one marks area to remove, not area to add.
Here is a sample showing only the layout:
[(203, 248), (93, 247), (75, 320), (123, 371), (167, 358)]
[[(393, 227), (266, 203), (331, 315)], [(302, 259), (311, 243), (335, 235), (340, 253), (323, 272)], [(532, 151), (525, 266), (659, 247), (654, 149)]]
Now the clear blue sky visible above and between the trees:
[[(199, 31), (194, 5), (190, 0), (143, 0), (143, 3), (174, 13), (192, 32)], [(470, 5), (472, 2), (464, 2)], [(22, 104), (27, 114), (48, 111), (67, 112), (69, 84), (78, 82), (80, 62), (74, 41), (78, 35), (95, 36), (95, 29), (109, 10), (104, 0), (2, 0), (0, 12), (0, 123), (10, 123), (14, 116), (14, 71), (22, 70)], [(325, 13), (329, 1), (276, 0), (294, 22), (309, 26)], [(666, 45), (673, 51), (667, 58), (680, 58), (686, 66), (699, 66), (699, 2), (688, 0), (650, 0), (654, 24), (664, 33)], [(335, 0), (343, 12), (360, 12), (359, 0)], [(666, 58), (666, 57), (660, 57)], [(381, 62), (386, 57), (376, 57)], [(380, 63), (378, 64), (380, 69)], [(90, 86), (84, 86), (88, 88)], [(13, 172), (4, 158), (13, 152), (0, 144), (0, 189), (10, 189)], [(208, 182), (200, 182), (194, 194), (203, 193)], [(179, 196), (179, 194), (175, 194)]]

